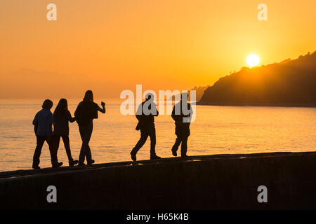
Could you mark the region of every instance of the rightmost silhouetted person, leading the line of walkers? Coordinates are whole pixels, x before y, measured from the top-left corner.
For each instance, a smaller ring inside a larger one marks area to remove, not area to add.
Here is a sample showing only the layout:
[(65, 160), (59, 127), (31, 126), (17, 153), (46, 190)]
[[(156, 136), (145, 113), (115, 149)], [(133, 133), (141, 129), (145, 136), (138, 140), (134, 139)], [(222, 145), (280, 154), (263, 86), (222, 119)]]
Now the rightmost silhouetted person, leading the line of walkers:
[(190, 136), (190, 122), (193, 114), (191, 104), (187, 102), (187, 93), (181, 94), (181, 100), (173, 106), (171, 117), (176, 124), (176, 142), (171, 151), (177, 156), (178, 148), (181, 144), (181, 157), (187, 157), (187, 138)]

